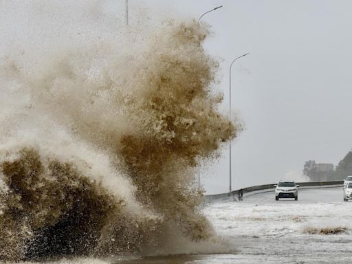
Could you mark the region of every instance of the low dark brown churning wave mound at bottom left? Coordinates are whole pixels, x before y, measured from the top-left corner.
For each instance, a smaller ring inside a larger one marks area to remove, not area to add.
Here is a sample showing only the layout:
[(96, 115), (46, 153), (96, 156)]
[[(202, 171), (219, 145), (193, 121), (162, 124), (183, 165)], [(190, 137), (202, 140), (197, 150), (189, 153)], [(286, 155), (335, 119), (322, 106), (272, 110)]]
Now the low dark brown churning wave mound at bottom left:
[[(8, 217), (0, 222), (1, 230), (15, 237), (19, 247), (11, 252), (8, 244), (3, 245), (4, 256), (15, 253), (10, 257), (22, 259), (90, 253), (108, 212), (122, 203), (82, 177), (72, 164), (50, 160), (45, 166), (33, 149), (23, 148), (17, 158), (3, 161), (1, 167), (3, 181), (10, 186), (1, 197), (5, 201), (2, 212)], [(8, 226), (12, 230), (6, 230)], [(5, 237), (3, 242), (12, 238)]]

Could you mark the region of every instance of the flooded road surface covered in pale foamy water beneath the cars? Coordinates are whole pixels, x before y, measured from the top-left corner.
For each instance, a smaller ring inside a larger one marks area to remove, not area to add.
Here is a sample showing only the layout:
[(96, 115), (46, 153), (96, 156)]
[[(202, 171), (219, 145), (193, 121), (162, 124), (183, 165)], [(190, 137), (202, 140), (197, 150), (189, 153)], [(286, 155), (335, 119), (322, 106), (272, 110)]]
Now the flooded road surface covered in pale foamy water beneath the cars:
[(352, 201), (342, 188), (300, 190), (299, 200), (274, 192), (217, 203), (204, 212), (234, 254), (164, 256), (122, 263), (351, 263)]

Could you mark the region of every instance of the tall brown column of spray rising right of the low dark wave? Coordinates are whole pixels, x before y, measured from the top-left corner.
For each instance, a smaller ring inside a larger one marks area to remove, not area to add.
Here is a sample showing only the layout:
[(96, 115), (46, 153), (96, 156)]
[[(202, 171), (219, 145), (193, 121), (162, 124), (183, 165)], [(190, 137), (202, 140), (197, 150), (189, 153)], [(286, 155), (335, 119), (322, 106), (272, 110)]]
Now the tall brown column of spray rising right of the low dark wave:
[(236, 131), (210, 94), (217, 62), (201, 46), (208, 31), (198, 23), (168, 26), (144, 54), (148, 67), (137, 73), (143, 96), (133, 98), (129, 116), (140, 129), (122, 135), (117, 150), (140, 201), (166, 213), (168, 225), (191, 239), (206, 239), (208, 223), (197, 210), (201, 194), (187, 168), (197, 165), (197, 157), (210, 157)]

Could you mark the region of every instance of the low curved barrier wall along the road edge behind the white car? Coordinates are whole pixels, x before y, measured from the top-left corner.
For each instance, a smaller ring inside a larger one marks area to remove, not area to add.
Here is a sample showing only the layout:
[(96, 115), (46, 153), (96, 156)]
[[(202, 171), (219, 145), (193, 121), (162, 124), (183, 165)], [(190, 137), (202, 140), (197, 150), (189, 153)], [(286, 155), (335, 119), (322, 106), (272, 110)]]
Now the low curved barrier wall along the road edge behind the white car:
[[(342, 186), (344, 181), (317, 181), (317, 182), (297, 182), (301, 189), (309, 188), (331, 188)], [(274, 184), (263, 184), (241, 189), (243, 197), (255, 195), (260, 192), (272, 192), (275, 190)], [(239, 191), (232, 190), (232, 192), (220, 193), (219, 195), (204, 195), (205, 203), (215, 203), (221, 201), (238, 201)]]

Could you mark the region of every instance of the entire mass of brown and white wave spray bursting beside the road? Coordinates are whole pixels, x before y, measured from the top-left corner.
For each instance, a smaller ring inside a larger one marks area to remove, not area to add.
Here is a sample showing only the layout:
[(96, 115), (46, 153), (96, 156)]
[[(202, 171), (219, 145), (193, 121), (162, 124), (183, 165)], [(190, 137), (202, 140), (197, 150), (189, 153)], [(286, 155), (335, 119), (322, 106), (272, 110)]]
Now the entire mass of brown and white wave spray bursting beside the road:
[[(208, 239), (192, 168), (237, 127), (218, 113), (221, 100), (210, 91), (218, 64), (201, 46), (207, 34), (195, 21), (167, 23), (142, 37), (131, 30), (128, 48), (61, 47), (29, 69), (3, 67), (5, 84), (28, 99), (1, 117), (6, 140), (19, 144), (1, 148), (1, 259), (150, 254), (156, 245), (167, 250), (160, 241), (168, 234)], [(94, 160), (96, 153), (109, 162)], [(122, 173), (137, 201), (119, 195)]]

